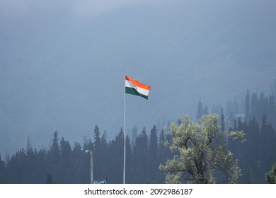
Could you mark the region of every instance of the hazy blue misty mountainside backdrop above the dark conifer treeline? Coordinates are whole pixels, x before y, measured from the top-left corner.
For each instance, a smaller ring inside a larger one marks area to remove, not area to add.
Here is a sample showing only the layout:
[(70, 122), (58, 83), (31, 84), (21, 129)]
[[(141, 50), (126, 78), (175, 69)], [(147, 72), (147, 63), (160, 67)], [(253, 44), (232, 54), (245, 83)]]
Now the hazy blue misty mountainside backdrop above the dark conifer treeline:
[[(0, 0), (0, 153), (92, 139), (123, 126), (127, 74), (151, 85), (126, 95), (127, 130), (195, 117), (269, 91), (276, 1)], [(166, 123), (165, 123), (166, 124)]]

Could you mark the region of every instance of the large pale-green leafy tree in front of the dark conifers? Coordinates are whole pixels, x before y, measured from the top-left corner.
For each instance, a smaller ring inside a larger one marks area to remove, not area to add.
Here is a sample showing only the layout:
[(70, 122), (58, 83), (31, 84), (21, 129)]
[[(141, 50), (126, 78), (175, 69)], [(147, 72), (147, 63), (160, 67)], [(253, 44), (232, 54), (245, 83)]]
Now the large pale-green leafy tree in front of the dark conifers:
[[(227, 149), (226, 131), (219, 131), (218, 115), (204, 115), (197, 122), (183, 116), (182, 124), (171, 124), (171, 151), (176, 154), (159, 168), (166, 175), (166, 183), (234, 183), (241, 176), (241, 168)], [(233, 138), (243, 132), (231, 132)], [(224, 181), (225, 180), (225, 181)]]

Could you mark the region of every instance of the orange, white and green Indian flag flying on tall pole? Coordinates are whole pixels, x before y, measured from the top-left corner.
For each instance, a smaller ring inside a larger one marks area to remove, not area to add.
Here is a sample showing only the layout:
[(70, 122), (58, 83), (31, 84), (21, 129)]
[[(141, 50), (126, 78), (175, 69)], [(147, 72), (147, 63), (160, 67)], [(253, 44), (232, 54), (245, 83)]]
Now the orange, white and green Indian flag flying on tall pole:
[(139, 81), (135, 81), (129, 76), (125, 76), (125, 93), (139, 95), (143, 98), (146, 98), (147, 100), (150, 89), (151, 86), (140, 83)]

